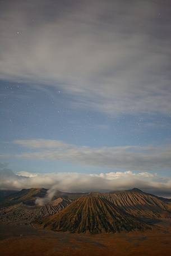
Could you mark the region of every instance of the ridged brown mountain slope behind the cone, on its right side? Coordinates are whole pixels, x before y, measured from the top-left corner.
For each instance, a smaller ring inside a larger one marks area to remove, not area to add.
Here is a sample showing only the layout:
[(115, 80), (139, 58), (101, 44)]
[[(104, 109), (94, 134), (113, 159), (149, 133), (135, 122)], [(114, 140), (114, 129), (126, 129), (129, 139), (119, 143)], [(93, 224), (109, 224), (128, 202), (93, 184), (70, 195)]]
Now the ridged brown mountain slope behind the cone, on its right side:
[(105, 198), (123, 211), (138, 218), (161, 218), (170, 216), (170, 204), (158, 196), (147, 194), (140, 189), (115, 191), (110, 193), (91, 193)]

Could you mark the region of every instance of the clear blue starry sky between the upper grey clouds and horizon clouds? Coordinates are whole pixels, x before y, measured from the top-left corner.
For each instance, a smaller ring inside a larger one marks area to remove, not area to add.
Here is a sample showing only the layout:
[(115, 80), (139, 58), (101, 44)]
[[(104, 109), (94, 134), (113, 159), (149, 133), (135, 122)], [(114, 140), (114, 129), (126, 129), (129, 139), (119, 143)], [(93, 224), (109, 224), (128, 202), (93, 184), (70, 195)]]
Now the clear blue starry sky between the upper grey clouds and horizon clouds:
[[(104, 166), (86, 166), (70, 161), (16, 158), (16, 153), (35, 151), (34, 148), (13, 143), (19, 139), (60, 140), (90, 148), (129, 145), (139, 148), (149, 145), (164, 147), (170, 144), (169, 115), (106, 115), (90, 109), (71, 108), (71, 95), (63, 93), (60, 88), (41, 90), (34, 85), (1, 81), (1, 89), (4, 109), (1, 112), (1, 153), (4, 154), (4, 162), (8, 162), (16, 172), (109, 171)], [(7, 158), (6, 154), (10, 154), (10, 157)], [(113, 168), (113, 171), (118, 170), (125, 171)], [(170, 174), (169, 168), (166, 170), (163, 167), (161, 171)]]

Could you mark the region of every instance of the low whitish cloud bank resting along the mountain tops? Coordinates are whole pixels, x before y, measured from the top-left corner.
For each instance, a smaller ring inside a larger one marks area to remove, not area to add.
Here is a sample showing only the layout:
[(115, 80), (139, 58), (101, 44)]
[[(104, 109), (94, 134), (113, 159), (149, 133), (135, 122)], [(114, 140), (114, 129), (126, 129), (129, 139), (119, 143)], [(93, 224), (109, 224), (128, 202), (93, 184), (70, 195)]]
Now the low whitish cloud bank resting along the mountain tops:
[[(6, 174), (5, 174), (6, 173)], [(5, 175), (4, 175), (5, 174)], [(22, 173), (24, 174), (24, 173)], [(22, 189), (22, 188), (47, 188), (47, 200), (52, 198), (54, 191), (110, 191), (123, 190), (137, 187), (150, 193), (171, 196), (170, 178), (162, 178), (157, 174), (126, 172), (108, 173), (30, 173), (21, 176), (21, 173), (14, 174), (11, 170), (0, 170), (1, 189)], [(41, 203), (41, 202), (39, 202)]]

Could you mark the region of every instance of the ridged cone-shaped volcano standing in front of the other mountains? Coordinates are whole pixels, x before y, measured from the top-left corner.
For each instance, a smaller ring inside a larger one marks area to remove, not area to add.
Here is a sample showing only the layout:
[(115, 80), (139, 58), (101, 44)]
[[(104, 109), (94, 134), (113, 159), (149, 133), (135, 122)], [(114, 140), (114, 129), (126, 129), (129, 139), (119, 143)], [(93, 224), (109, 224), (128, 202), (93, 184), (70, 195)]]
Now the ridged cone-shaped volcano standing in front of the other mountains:
[(93, 234), (149, 228), (144, 222), (123, 212), (107, 199), (91, 195), (77, 199), (63, 211), (44, 218), (39, 224), (54, 231)]

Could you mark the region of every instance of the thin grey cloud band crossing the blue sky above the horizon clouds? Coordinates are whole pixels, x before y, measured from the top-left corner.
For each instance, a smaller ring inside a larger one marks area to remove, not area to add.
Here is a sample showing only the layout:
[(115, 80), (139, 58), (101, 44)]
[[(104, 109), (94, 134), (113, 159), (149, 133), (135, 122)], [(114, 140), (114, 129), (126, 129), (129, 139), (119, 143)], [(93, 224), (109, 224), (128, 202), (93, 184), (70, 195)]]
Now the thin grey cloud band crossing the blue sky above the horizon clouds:
[(87, 166), (143, 172), (170, 170), (171, 166), (171, 145), (93, 148), (45, 139), (15, 140), (13, 143), (32, 149), (31, 152), (15, 154), (19, 158), (62, 160)]

